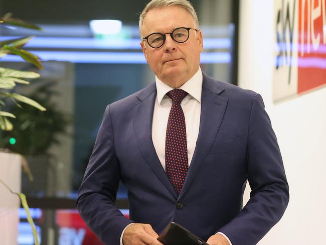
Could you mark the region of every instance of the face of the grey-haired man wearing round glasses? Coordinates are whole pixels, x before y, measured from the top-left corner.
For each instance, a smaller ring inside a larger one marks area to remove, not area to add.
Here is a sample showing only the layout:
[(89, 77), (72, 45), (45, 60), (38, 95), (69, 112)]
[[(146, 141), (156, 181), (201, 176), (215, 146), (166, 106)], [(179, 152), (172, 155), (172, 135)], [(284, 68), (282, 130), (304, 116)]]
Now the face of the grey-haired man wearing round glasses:
[(143, 21), (141, 36), (151, 33), (170, 33), (178, 27), (191, 27), (189, 39), (185, 43), (177, 43), (169, 34), (160, 48), (150, 47), (147, 41), (140, 42), (155, 75), (166, 84), (180, 87), (188, 81), (199, 68), (200, 53), (203, 50), (203, 36), (196, 28), (191, 14), (178, 6), (150, 10)]

